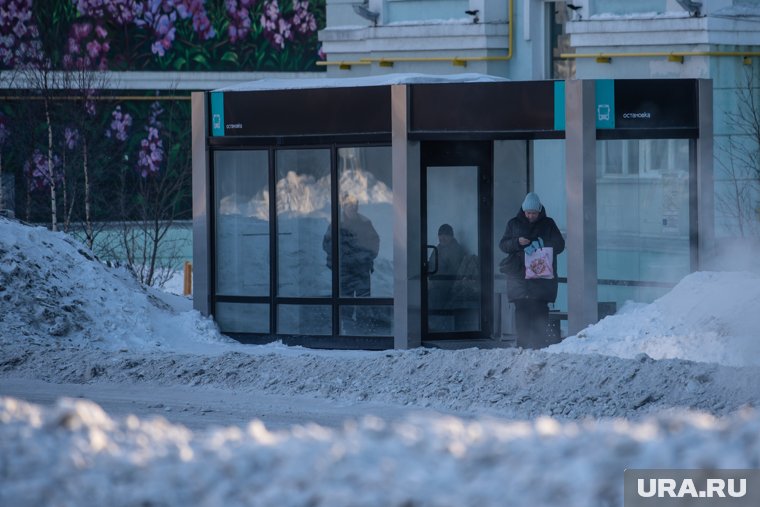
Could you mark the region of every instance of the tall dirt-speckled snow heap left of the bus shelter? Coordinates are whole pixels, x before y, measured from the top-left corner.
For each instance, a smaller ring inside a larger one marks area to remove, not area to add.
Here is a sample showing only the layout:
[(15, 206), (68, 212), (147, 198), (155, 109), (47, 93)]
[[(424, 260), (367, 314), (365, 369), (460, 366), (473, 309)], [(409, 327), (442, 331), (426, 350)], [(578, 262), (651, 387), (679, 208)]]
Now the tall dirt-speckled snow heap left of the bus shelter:
[(0, 343), (174, 350), (232, 343), (182, 299), (143, 288), (69, 235), (0, 218)]

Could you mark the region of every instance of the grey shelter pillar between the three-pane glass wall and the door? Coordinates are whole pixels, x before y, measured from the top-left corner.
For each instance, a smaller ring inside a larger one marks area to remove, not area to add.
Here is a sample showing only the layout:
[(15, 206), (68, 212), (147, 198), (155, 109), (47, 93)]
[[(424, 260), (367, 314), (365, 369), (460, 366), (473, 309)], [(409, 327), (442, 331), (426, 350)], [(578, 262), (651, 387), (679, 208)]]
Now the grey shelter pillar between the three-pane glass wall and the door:
[(409, 88), (391, 86), (393, 347), (422, 345), (419, 142), (408, 140)]

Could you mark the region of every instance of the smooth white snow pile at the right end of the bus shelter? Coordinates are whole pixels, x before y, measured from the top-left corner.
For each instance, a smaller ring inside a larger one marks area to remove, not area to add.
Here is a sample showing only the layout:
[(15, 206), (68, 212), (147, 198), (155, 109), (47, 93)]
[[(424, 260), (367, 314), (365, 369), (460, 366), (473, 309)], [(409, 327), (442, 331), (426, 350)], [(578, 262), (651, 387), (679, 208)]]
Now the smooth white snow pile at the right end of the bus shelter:
[(625, 305), (547, 350), (758, 366), (758, 308), (760, 274), (692, 273), (652, 304)]

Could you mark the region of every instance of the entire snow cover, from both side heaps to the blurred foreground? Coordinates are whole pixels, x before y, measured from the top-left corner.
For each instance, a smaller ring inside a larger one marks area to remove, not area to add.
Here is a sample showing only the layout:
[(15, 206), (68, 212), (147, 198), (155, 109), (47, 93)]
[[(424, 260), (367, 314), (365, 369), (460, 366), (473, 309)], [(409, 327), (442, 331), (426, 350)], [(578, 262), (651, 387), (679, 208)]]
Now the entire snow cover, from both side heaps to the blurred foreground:
[(622, 505), (760, 468), (758, 303), (700, 272), (547, 351), (243, 346), (0, 219), (0, 505)]

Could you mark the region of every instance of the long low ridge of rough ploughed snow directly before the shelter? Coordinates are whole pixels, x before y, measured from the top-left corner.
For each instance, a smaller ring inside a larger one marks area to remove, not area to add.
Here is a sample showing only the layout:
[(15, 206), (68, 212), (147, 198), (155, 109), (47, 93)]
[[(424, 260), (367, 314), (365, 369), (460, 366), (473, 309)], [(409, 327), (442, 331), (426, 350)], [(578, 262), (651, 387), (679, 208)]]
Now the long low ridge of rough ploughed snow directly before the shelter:
[(205, 356), (26, 347), (2, 351), (0, 374), (68, 384), (207, 386), (513, 419), (634, 418), (671, 409), (726, 415), (760, 406), (757, 367), (520, 349), (337, 352), (270, 345)]

